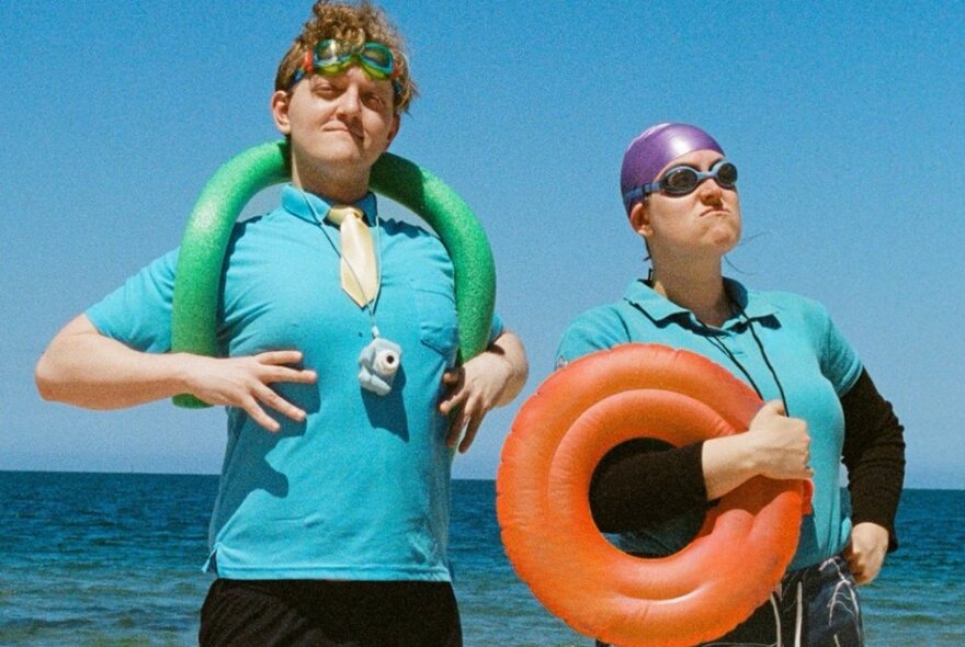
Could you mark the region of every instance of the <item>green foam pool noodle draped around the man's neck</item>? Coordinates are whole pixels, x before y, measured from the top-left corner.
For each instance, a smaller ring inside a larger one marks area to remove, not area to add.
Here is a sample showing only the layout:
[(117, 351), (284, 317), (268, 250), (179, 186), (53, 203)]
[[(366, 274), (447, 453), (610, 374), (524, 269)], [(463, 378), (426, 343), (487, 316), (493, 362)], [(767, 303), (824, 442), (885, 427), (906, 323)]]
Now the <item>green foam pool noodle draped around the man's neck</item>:
[[(218, 288), (231, 230), (259, 191), (291, 178), (287, 159), (285, 141), (261, 144), (230, 159), (204, 186), (178, 253), (171, 352), (217, 354)], [(453, 263), (458, 361), (475, 357), (486, 350), (496, 305), (496, 264), (476, 215), (438, 177), (389, 152), (372, 167), (370, 188), (412, 211), (439, 235)], [(189, 394), (173, 399), (179, 407), (208, 406)]]

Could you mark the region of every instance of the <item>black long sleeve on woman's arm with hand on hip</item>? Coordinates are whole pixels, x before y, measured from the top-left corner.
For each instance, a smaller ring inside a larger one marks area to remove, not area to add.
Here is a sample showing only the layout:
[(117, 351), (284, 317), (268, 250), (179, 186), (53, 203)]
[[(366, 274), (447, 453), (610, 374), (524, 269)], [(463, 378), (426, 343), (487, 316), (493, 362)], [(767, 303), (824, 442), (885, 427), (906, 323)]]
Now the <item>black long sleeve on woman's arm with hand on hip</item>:
[(841, 398), (844, 410), (842, 461), (848, 468), (851, 521), (874, 522), (888, 531), (888, 549), (898, 547), (895, 514), (905, 481), (905, 428), (892, 404), (862, 371)]

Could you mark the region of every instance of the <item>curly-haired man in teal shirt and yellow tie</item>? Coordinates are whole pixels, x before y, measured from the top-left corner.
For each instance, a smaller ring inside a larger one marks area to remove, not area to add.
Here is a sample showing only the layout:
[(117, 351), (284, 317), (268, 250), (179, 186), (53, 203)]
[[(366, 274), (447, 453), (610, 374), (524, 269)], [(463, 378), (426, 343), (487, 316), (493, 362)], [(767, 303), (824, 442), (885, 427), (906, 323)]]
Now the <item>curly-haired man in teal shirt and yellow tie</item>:
[[(228, 407), (202, 645), (462, 645), (446, 559), (452, 457), (527, 370), (499, 317), (488, 349), (455, 366), (445, 249), (378, 216), (370, 171), (415, 95), (378, 8), (317, 2), (271, 99), (292, 183), (276, 209), (235, 228), (220, 356), (169, 352), (174, 250), (68, 324), (37, 365), (45, 398), (82, 407), (182, 393)], [(337, 214), (374, 240), (367, 292)], [(342, 282), (347, 263), (361, 297)], [(360, 351), (385, 340), (401, 349), (397, 373), (372, 388)]]

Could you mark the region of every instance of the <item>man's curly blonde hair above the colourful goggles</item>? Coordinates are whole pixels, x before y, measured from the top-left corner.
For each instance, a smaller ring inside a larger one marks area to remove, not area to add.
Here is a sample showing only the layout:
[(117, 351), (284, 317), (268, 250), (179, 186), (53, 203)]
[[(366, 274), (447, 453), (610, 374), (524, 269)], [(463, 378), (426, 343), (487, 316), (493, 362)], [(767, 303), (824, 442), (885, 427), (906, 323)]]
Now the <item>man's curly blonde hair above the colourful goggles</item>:
[(275, 73), (275, 90), (288, 90), (292, 78), (305, 59), (306, 53), (311, 52), (319, 42), (334, 38), (361, 46), (372, 41), (382, 43), (391, 50), (398, 70), (395, 79), (398, 83), (398, 90), (395, 93), (395, 111), (397, 114), (408, 111), (409, 103), (419, 92), (409, 76), (402, 36), (389, 22), (385, 12), (368, 0), (362, 0), (357, 5), (348, 2), (318, 0), (311, 8), (311, 19), (305, 23), (302, 33), (295, 38), (292, 47), (282, 58), (282, 63), (279, 64), (279, 70)]

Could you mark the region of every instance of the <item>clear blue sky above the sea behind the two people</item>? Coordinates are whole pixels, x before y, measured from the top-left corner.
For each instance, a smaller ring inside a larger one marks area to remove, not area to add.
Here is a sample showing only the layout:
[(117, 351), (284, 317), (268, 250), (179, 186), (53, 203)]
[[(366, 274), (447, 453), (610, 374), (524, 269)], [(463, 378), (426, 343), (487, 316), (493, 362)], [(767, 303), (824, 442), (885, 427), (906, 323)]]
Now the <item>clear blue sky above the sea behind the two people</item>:
[[(965, 488), (961, 3), (384, 5), (422, 91), (393, 150), (483, 220), (498, 308), (530, 353), (524, 395), (567, 322), (646, 271), (620, 204), (626, 144), (695, 123), (740, 168), (728, 273), (824, 302), (906, 425), (908, 485)], [(33, 365), (178, 245), (222, 162), (276, 137), (274, 70), (308, 13), (0, 0), (0, 469), (218, 470), (223, 411), (45, 404)], [(493, 476), (518, 405), (487, 419), (456, 476)]]

